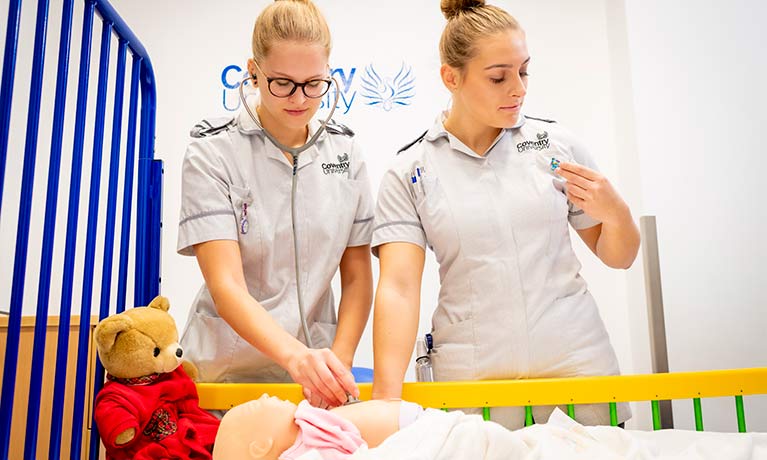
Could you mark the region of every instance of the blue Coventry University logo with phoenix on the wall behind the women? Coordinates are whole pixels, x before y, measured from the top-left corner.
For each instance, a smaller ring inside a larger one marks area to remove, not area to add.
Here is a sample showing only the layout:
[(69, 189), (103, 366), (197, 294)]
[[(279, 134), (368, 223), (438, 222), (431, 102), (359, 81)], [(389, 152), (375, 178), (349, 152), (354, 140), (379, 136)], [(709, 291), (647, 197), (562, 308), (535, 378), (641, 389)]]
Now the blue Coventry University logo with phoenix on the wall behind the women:
[[(395, 107), (404, 107), (412, 103), (415, 96), (415, 73), (413, 68), (403, 62), (394, 76), (383, 75), (373, 64), (365, 66), (364, 75), (357, 73), (357, 67), (336, 67), (330, 70), (335, 79), (330, 91), (322, 97), (320, 109), (329, 109), (333, 104), (339, 114), (347, 114), (360, 101), (362, 96), (364, 106), (380, 107), (390, 112)], [(247, 72), (237, 64), (224, 67), (221, 72), (222, 106), (229, 112), (240, 109), (240, 81)], [(247, 86), (249, 83), (245, 82)], [(338, 100), (336, 101), (336, 96)]]

